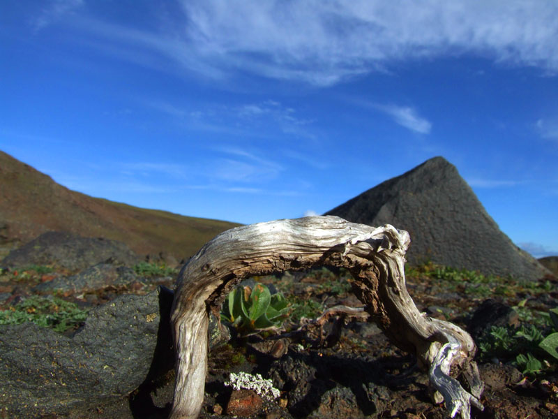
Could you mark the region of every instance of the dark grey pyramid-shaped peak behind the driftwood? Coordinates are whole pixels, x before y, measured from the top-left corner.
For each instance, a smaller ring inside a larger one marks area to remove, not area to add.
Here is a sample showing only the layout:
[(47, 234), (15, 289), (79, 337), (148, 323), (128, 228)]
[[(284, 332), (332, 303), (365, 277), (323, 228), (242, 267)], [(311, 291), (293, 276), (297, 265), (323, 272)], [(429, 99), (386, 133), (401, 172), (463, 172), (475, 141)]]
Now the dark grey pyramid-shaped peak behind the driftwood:
[(432, 260), (522, 279), (550, 273), (502, 233), (455, 166), (443, 157), (386, 180), (326, 215), (407, 230), (411, 264)]

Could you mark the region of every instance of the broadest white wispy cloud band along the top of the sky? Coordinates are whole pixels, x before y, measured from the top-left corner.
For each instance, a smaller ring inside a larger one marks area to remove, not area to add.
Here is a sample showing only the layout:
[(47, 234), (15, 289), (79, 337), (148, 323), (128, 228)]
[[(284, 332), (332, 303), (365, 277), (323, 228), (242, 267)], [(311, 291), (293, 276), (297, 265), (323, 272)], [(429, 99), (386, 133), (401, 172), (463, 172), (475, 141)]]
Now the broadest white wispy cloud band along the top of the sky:
[[(45, 13), (44, 22), (80, 1), (52, 4), (56, 6)], [(119, 59), (140, 59), (141, 64), (163, 71), (179, 68), (221, 80), (241, 71), (329, 86), (384, 71), (398, 61), (461, 54), (558, 72), (555, 1), (179, 0), (179, 4), (182, 13), (174, 13), (172, 22), (152, 22), (149, 29), (112, 24), (85, 12), (74, 27), (96, 39), (105, 38), (96, 47)]]

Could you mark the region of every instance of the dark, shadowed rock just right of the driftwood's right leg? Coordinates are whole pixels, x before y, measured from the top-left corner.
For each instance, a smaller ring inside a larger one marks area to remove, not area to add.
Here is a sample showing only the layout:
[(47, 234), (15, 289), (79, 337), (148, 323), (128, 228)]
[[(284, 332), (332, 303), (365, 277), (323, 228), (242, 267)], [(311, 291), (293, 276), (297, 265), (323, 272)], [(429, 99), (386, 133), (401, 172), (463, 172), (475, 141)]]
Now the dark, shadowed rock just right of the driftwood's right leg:
[(468, 330), (473, 339), (478, 341), (483, 335), (490, 333), (492, 326), (519, 326), (519, 316), (508, 305), (489, 298), (474, 311)]

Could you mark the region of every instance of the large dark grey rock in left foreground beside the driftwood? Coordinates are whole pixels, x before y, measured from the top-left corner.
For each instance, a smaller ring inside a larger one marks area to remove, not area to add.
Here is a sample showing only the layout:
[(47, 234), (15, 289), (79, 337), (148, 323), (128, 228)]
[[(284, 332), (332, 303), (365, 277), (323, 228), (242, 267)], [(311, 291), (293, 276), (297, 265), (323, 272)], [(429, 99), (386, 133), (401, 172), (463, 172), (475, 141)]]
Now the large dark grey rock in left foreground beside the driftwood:
[(145, 388), (174, 364), (171, 304), (166, 288), (123, 295), (92, 309), (73, 337), (0, 326), (0, 417), (80, 417)]

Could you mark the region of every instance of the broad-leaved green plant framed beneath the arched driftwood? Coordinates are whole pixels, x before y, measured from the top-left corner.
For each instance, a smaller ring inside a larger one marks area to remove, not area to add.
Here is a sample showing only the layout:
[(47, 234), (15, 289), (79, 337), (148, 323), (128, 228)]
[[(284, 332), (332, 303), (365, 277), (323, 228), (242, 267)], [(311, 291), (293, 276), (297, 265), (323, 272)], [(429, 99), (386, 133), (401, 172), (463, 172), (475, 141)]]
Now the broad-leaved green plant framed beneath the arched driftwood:
[(278, 328), (289, 313), (289, 304), (282, 294), (271, 295), (264, 284), (234, 289), (227, 295), (221, 309), (221, 320), (232, 323), (241, 335)]

